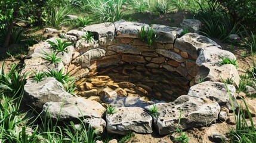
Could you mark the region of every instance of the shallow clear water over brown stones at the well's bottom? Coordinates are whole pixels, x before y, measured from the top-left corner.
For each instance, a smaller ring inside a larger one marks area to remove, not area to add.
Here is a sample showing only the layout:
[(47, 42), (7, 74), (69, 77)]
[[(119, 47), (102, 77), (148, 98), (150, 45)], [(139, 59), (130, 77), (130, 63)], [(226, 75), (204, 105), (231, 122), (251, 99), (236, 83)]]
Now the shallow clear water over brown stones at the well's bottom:
[(115, 104), (113, 98), (127, 97), (145, 102), (171, 102), (186, 95), (190, 88), (190, 81), (179, 73), (150, 69), (144, 64), (114, 64), (90, 71), (86, 78), (79, 80), (77, 95), (106, 104)]

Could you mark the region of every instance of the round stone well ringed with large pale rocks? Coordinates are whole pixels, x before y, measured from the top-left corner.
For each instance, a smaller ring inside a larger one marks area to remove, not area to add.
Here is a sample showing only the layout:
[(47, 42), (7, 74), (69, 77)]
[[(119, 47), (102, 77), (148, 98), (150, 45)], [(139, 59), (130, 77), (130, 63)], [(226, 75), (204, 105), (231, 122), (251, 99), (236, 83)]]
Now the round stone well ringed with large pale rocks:
[[(159, 36), (151, 47), (138, 39), (138, 29), (142, 26), (152, 27)], [(90, 111), (85, 118), (97, 119), (93, 123), (99, 121), (95, 125), (97, 128), (102, 125), (102, 132), (106, 126), (110, 133), (151, 133), (153, 123), (159, 134), (165, 135), (177, 128), (180, 111), (181, 129), (209, 125), (218, 119), (221, 107), (230, 108), (230, 98), (221, 78), (233, 79), (235, 86), (239, 85), (236, 67), (232, 64), (220, 65), (220, 57), (236, 57), (205, 36), (197, 33), (181, 36), (182, 31), (178, 27), (159, 24), (149, 26), (127, 21), (70, 30), (65, 38), (74, 41), (75, 45), (70, 46), (67, 52), (58, 53), (62, 63), (47, 63), (41, 53), (42, 49), (50, 52), (51, 45), (41, 42), (30, 47), (23, 73), (64, 67), (75, 77), (78, 87), (76, 93), (79, 96), (69, 98), (70, 95), (58, 89), (61, 95), (69, 99), (64, 98), (67, 102), (64, 105), (74, 105), (73, 100), (81, 97), (83, 100), (97, 101), (90, 102), (95, 108), (87, 107), (81, 100), (75, 105), (88, 108)], [(82, 39), (86, 32), (92, 32), (95, 40), (89, 42)], [(50, 40), (54, 41), (54, 38)], [(205, 82), (197, 84), (200, 79), (205, 79)], [(33, 83), (29, 80), (25, 85), (27, 98), (24, 101), (35, 102), (33, 105), (43, 110), (49, 105), (58, 106), (54, 102), (63, 101), (63, 97), (56, 95), (55, 81), (48, 80), (51, 81), (48, 86), (47, 83)], [(44, 88), (47, 94), (38, 96), (41, 95), (40, 89), (31, 88), (41, 86), (47, 86)], [(235, 86), (228, 86), (232, 97), (235, 97)], [(46, 95), (53, 97), (44, 98)], [(33, 101), (35, 96), (37, 100)], [(118, 107), (115, 114), (106, 114), (105, 123), (98, 120), (104, 116), (102, 105), (98, 102)], [(157, 116), (149, 114), (152, 104), (158, 107)], [(67, 109), (63, 113), (63, 120), (77, 117), (72, 115), (75, 111), (69, 112)], [(90, 116), (91, 110), (97, 110), (97, 116)]]

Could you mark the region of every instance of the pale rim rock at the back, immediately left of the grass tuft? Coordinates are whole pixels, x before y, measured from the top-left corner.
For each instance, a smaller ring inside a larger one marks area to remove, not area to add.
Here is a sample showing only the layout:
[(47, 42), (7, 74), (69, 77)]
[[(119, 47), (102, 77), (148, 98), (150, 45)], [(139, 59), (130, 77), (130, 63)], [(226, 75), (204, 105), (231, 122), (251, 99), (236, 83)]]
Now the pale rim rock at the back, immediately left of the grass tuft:
[(127, 22), (124, 20), (116, 21), (114, 24), (116, 28), (116, 38), (138, 38), (138, 30), (140, 30), (142, 26), (145, 26), (146, 29), (149, 27), (148, 24)]

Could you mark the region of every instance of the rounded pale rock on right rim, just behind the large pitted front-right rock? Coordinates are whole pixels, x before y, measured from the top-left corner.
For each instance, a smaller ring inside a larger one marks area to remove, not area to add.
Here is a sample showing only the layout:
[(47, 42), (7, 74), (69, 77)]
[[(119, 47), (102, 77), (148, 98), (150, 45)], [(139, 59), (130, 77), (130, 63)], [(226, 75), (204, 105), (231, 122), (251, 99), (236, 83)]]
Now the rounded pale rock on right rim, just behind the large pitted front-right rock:
[[(227, 85), (232, 100), (235, 100), (236, 88), (233, 85)], [(228, 106), (232, 110), (229, 94), (224, 83), (221, 82), (202, 82), (192, 86), (189, 93), (192, 97), (206, 97), (209, 100), (218, 102), (220, 106)], [(235, 105), (236, 106), (236, 105)]]

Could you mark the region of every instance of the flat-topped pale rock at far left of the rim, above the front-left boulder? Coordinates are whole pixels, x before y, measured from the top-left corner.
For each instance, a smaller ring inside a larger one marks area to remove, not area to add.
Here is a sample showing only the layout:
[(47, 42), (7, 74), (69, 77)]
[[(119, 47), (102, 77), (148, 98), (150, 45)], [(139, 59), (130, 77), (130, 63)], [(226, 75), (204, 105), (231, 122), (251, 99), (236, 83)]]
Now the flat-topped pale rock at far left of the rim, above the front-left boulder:
[[(39, 71), (57, 70), (60, 71), (63, 68), (63, 63), (52, 64), (43, 58), (30, 58), (24, 60), (24, 68), (21, 70), (21, 75), (32, 71), (38, 73)], [(30, 74), (32, 76), (32, 74)]]

